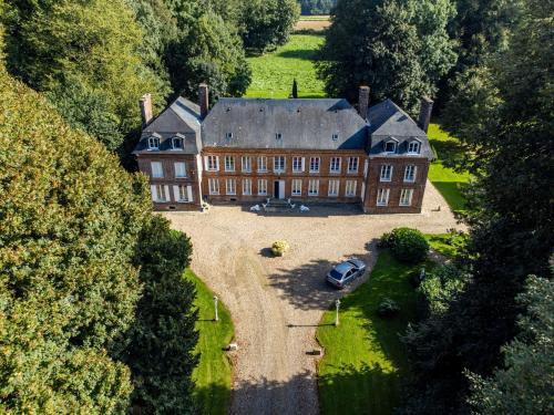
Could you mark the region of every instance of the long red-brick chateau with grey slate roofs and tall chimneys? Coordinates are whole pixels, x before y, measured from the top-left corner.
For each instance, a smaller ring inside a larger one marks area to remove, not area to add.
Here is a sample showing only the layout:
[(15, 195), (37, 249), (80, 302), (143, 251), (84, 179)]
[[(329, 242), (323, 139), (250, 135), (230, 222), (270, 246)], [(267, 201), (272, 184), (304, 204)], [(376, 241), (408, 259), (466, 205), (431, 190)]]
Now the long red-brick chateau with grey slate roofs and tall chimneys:
[(368, 214), (417, 214), (432, 158), (427, 129), (433, 102), (421, 100), (418, 123), (392, 101), (358, 107), (342, 98), (220, 98), (209, 108), (178, 97), (152, 120), (141, 100), (143, 132), (134, 151), (150, 177), (156, 210), (207, 203), (359, 204)]

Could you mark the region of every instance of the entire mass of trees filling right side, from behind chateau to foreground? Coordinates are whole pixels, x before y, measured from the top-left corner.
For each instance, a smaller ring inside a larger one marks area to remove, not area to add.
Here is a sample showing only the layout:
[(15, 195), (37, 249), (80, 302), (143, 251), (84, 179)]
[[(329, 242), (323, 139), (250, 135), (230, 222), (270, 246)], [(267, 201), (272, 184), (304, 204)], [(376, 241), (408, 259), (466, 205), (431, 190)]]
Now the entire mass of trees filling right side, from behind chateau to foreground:
[[(403, 336), (403, 414), (554, 411), (554, 8), (537, 0), (340, 0), (318, 71), (331, 95), (438, 97), (469, 170), (465, 250)], [(535, 277), (533, 277), (535, 276)], [(425, 291), (427, 290), (427, 291)]]

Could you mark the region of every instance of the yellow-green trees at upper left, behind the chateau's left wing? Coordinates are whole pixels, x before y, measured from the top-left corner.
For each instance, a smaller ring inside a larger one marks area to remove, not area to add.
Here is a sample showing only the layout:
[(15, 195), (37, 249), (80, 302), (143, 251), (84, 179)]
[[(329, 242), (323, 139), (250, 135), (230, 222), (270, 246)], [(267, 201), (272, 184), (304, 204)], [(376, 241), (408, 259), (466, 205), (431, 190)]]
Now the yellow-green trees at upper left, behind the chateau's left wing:
[[(7, 0), (10, 74), (41, 92), (74, 128), (121, 156), (140, 127), (138, 97), (240, 96), (248, 53), (287, 41), (294, 0)], [(131, 143), (130, 143), (131, 142)]]

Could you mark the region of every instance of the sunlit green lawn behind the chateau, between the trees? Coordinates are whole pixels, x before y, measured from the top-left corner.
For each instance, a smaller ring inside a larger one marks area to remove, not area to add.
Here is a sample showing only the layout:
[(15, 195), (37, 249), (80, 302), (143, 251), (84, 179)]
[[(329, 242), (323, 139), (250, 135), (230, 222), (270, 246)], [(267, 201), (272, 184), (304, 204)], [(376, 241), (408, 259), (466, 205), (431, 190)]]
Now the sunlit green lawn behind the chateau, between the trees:
[(245, 96), (287, 98), (296, 79), (299, 97), (324, 97), (324, 83), (317, 79), (312, 61), (322, 43), (321, 35), (293, 34), (274, 52), (249, 58), (253, 82)]

